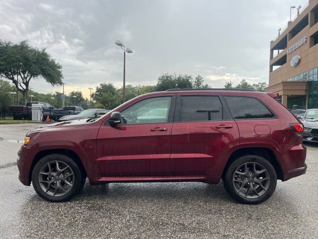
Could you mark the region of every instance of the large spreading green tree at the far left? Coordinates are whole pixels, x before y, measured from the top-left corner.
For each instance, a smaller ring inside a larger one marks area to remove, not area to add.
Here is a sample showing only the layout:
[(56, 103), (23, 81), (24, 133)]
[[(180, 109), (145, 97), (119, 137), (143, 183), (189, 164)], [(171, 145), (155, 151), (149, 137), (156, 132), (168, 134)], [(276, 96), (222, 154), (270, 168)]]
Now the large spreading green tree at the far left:
[(52, 86), (62, 84), (62, 66), (57, 63), (46, 49), (38, 49), (21, 41), (13, 44), (0, 40), (0, 76), (10, 80), (22, 93), (24, 104), (28, 101), (31, 79), (42, 77)]

